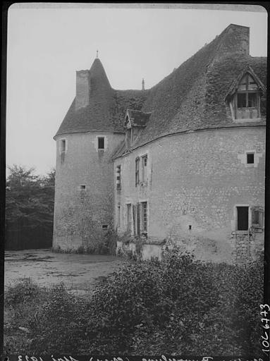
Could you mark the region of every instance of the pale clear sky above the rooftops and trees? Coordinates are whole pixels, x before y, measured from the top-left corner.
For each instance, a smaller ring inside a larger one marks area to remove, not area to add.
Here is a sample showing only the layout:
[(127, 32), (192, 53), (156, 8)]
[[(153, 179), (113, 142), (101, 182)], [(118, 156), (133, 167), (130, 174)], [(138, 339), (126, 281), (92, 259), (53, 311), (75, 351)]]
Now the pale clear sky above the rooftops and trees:
[(267, 54), (262, 7), (230, 11), (154, 5), (9, 8), (7, 166), (35, 167), (42, 175), (54, 168), (53, 137), (75, 97), (75, 72), (90, 69), (97, 49), (114, 89), (141, 89), (142, 78), (146, 89), (152, 87), (231, 23), (250, 27), (250, 55)]

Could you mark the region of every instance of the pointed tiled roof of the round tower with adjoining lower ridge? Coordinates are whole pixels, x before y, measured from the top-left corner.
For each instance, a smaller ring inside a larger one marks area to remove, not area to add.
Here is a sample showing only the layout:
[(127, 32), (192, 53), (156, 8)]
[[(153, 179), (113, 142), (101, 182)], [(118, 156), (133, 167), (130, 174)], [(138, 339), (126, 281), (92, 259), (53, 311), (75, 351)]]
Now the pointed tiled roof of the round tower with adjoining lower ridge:
[(74, 99), (56, 136), (90, 131), (123, 133), (126, 109), (140, 110), (147, 94), (142, 90), (113, 90), (102, 62), (95, 59), (90, 68), (89, 104), (76, 109)]

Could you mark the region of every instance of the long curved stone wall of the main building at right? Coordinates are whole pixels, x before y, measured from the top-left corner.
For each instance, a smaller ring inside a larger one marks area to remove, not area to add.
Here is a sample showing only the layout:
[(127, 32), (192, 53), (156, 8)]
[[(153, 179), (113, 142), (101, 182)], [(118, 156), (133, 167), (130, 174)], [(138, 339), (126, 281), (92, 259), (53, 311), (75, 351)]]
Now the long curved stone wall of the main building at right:
[[(260, 156), (247, 167), (239, 156), (249, 149)], [(144, 154), (148, 179), (135, 187), (135, 159)], [(264, 206), (264, 162), (265, 129), (260, 127), (161, 138), (114, 161), (115, 173), (121, 165), (121, 190), (114, 184), (114, 226), (125, 233), (127, 204), (147, 202), (149, 241), (169, 238), (202, 259), (238, 259), (231, 241), (235, 205)], [(263, 247), (263, 236), (253, 237), (256, 247)]]

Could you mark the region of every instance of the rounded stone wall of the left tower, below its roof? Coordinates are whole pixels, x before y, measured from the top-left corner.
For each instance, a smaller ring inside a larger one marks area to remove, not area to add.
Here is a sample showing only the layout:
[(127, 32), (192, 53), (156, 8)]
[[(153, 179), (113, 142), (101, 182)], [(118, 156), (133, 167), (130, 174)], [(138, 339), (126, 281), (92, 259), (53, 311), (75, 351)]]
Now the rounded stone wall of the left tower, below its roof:
[[(97, 137), (105, 137), (104, 150)], [(66, 154), (60, 154), (61, 139)], [(54, 249), (94, 247), (113, 222), (111, 156), (123, 139), (113, 133), (74, 133), (56, 138)], [(102, 227), (103, 226), (103, 227)]]

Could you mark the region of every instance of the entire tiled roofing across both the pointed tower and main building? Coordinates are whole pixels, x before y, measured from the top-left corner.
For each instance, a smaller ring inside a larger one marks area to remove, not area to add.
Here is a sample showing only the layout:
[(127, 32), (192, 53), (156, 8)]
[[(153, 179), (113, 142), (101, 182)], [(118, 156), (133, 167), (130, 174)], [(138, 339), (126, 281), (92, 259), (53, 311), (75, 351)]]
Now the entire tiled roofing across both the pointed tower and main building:
[[(90, 104), (75, 110), (74, 101), (57, 135), (93, 130), (123, 133), (127, 109), (135, 124), (146, 124), (132, 149), (172, 133), (238, 126), (225, 99), (239, 75), (249, 67), (266, 85), (266, 58), (250, 56), (248, 42), (247, 27), (229, 25), (150, 90), (113, 90), (102, 63), (96, 59), (90, 69)], [(261, 114), (264, 124), (265, 95)], [(125, 147), (121, 145), (115, 157), (123, 152)]]

